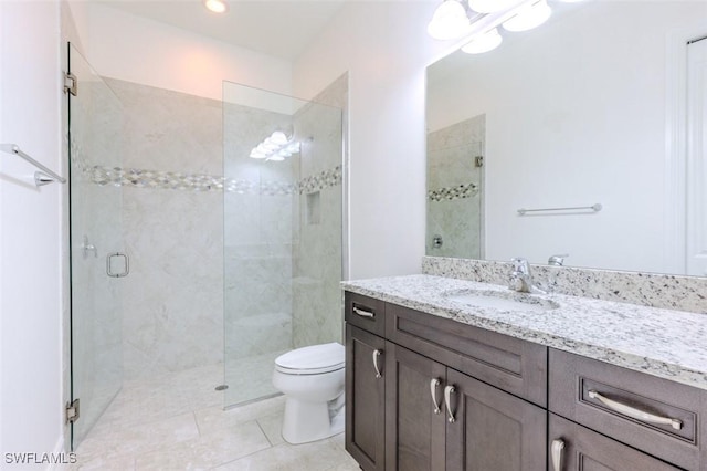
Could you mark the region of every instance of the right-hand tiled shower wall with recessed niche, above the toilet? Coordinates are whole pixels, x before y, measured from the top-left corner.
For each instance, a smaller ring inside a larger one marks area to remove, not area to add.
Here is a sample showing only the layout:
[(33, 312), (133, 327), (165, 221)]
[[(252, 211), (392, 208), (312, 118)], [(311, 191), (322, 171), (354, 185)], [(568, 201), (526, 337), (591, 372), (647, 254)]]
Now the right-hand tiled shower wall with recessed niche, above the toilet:
[[(341, 342), (342, 128), (348, 75), (295, 115), (302, 136), (299, 198), (293, 248), (294, 347)], [(321, 106), (320, 104), (328, 105)], [(304, 185), (319, 178), (316, 185)]]

